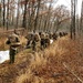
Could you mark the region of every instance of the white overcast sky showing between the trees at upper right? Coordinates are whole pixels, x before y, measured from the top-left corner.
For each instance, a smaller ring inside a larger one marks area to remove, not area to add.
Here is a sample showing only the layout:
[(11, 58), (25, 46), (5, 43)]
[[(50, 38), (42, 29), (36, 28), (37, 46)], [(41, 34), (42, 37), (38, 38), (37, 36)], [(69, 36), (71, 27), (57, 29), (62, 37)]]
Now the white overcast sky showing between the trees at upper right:
[[(79, 12), (79, 14), (81, 13), (81, 3), (82, 3), (82, 0), (77, 0), (77, 12)], [(59, 0), (55, 6), (58, 6), (58, 4), (64, 4), (69, 9), (71, 9), (71, 0)]]

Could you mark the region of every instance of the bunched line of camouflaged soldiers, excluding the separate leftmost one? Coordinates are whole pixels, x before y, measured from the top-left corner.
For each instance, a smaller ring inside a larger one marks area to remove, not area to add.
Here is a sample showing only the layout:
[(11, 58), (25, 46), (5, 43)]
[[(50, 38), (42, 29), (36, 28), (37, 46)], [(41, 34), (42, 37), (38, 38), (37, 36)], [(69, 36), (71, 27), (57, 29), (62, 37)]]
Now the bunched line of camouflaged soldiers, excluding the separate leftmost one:
[(58, 37), (66, 35), (66, 32), (59, 32), (59, 33), (48, 33), (48, 32), (29, 32), (25, 37), (28, 39), (27, 49), (32, 48), (32, 50), (37, 51), (39, 48), (41, 50), (48, 48), (53, 41), (58, 39)]

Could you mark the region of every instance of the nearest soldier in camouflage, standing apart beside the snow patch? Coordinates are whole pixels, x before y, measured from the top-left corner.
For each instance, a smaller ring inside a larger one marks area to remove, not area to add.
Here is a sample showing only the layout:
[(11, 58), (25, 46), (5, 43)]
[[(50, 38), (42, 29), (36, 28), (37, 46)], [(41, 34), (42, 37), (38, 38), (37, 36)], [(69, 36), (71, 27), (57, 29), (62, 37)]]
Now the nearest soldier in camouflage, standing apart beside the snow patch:
[(19, 37), (12, 33), (6, 43), (10, 44), (10, 63), (14, 63), (14, 55), (18, 53), (18, 46), (21, 45)]

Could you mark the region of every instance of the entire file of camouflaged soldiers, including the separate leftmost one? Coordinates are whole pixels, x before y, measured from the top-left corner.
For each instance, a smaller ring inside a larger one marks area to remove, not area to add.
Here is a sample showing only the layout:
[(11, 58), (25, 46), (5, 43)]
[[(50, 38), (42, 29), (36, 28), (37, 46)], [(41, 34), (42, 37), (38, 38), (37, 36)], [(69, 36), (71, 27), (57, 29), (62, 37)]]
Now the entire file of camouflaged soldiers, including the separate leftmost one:
[[(51, 32), (29, 32), (25, 37), (28, 40), (25, 49), (32, 49), (33, 51), (38, 51), (39, 49), (44, 50), (51, 43), (53, 43), (53, 41), (56, 40), (58, 37), (61, 38), (66, 34), (68, 33), (65, 32), (59, 32), (58, 34)], [(10, 63), (14, 63), (14, 56), (18, 53), (18, 48), (21, 45), (19, 34), (15, 30), (8, 37), (6, 43), (10, 45)]]

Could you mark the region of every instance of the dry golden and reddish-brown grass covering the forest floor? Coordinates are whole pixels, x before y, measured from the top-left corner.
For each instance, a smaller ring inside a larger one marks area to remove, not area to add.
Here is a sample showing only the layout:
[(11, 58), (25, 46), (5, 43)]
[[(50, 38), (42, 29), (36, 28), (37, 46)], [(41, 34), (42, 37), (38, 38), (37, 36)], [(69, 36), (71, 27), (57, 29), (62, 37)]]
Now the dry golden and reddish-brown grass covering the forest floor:
[(68, 35), (44, 51), (25, 49), (15, 55), (13, 64), (9, 61), (0, 64), (0, 83), (83, 83), (82, 52), (82, 40), (71, 40)]

